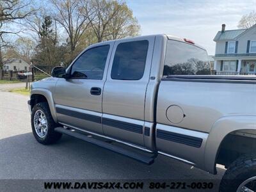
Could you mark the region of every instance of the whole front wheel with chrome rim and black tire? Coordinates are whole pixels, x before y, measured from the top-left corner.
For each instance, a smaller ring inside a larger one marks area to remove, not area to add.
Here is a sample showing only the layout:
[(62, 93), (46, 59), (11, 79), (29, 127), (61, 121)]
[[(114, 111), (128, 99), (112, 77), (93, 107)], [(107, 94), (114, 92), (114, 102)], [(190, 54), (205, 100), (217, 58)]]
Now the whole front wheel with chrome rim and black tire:
[(44, 145), (55, 143), (61, 138), (61, 133), (54, 131), (58, 124), (52, 119), (47, 102), (39, 102), (33, 107), (31, 127), (36, 141)]

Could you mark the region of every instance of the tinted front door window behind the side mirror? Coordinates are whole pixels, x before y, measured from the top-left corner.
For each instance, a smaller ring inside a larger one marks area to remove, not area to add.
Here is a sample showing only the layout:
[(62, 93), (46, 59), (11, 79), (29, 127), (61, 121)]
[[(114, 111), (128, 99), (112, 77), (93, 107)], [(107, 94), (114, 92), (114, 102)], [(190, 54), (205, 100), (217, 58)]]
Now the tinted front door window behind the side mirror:
[(84, 52), (72, 65), (71, 77), (78, 79), (102, 79), (109, 45), (95, 47)]

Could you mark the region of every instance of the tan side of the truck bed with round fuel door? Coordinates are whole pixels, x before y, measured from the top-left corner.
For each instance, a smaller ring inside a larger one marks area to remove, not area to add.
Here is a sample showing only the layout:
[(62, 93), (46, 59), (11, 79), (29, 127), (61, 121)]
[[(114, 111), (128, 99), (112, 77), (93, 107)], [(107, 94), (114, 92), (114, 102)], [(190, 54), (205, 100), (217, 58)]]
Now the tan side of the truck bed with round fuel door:
[(204, 164), (211, 132), (219, 133), (217, 138), (224, 132), (223, 127), (215, 127), (216, 122), (256, 116), (255, 80), (252, 76), (163, 77), (157, 94), (157, 150)]

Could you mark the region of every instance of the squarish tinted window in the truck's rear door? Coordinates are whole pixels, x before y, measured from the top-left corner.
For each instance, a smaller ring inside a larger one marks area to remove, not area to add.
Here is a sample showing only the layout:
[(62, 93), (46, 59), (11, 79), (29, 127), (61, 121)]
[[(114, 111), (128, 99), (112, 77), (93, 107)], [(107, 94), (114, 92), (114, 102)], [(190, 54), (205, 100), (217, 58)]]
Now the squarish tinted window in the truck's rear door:
[(139, 80), (144, 74), (148, 41), (121, 43), (116, 47), (111, 70), (112, 79)]

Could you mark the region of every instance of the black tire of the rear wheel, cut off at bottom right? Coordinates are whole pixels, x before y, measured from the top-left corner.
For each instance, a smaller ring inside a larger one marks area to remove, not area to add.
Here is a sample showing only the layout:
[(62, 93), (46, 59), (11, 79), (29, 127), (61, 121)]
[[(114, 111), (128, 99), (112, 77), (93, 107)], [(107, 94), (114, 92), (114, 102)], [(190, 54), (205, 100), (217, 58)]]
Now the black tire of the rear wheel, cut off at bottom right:
[(220, 183), (220, 191), (237, 191), (244, 180), (255, 176), (256, 154), (241, 156), (228, 166)]

